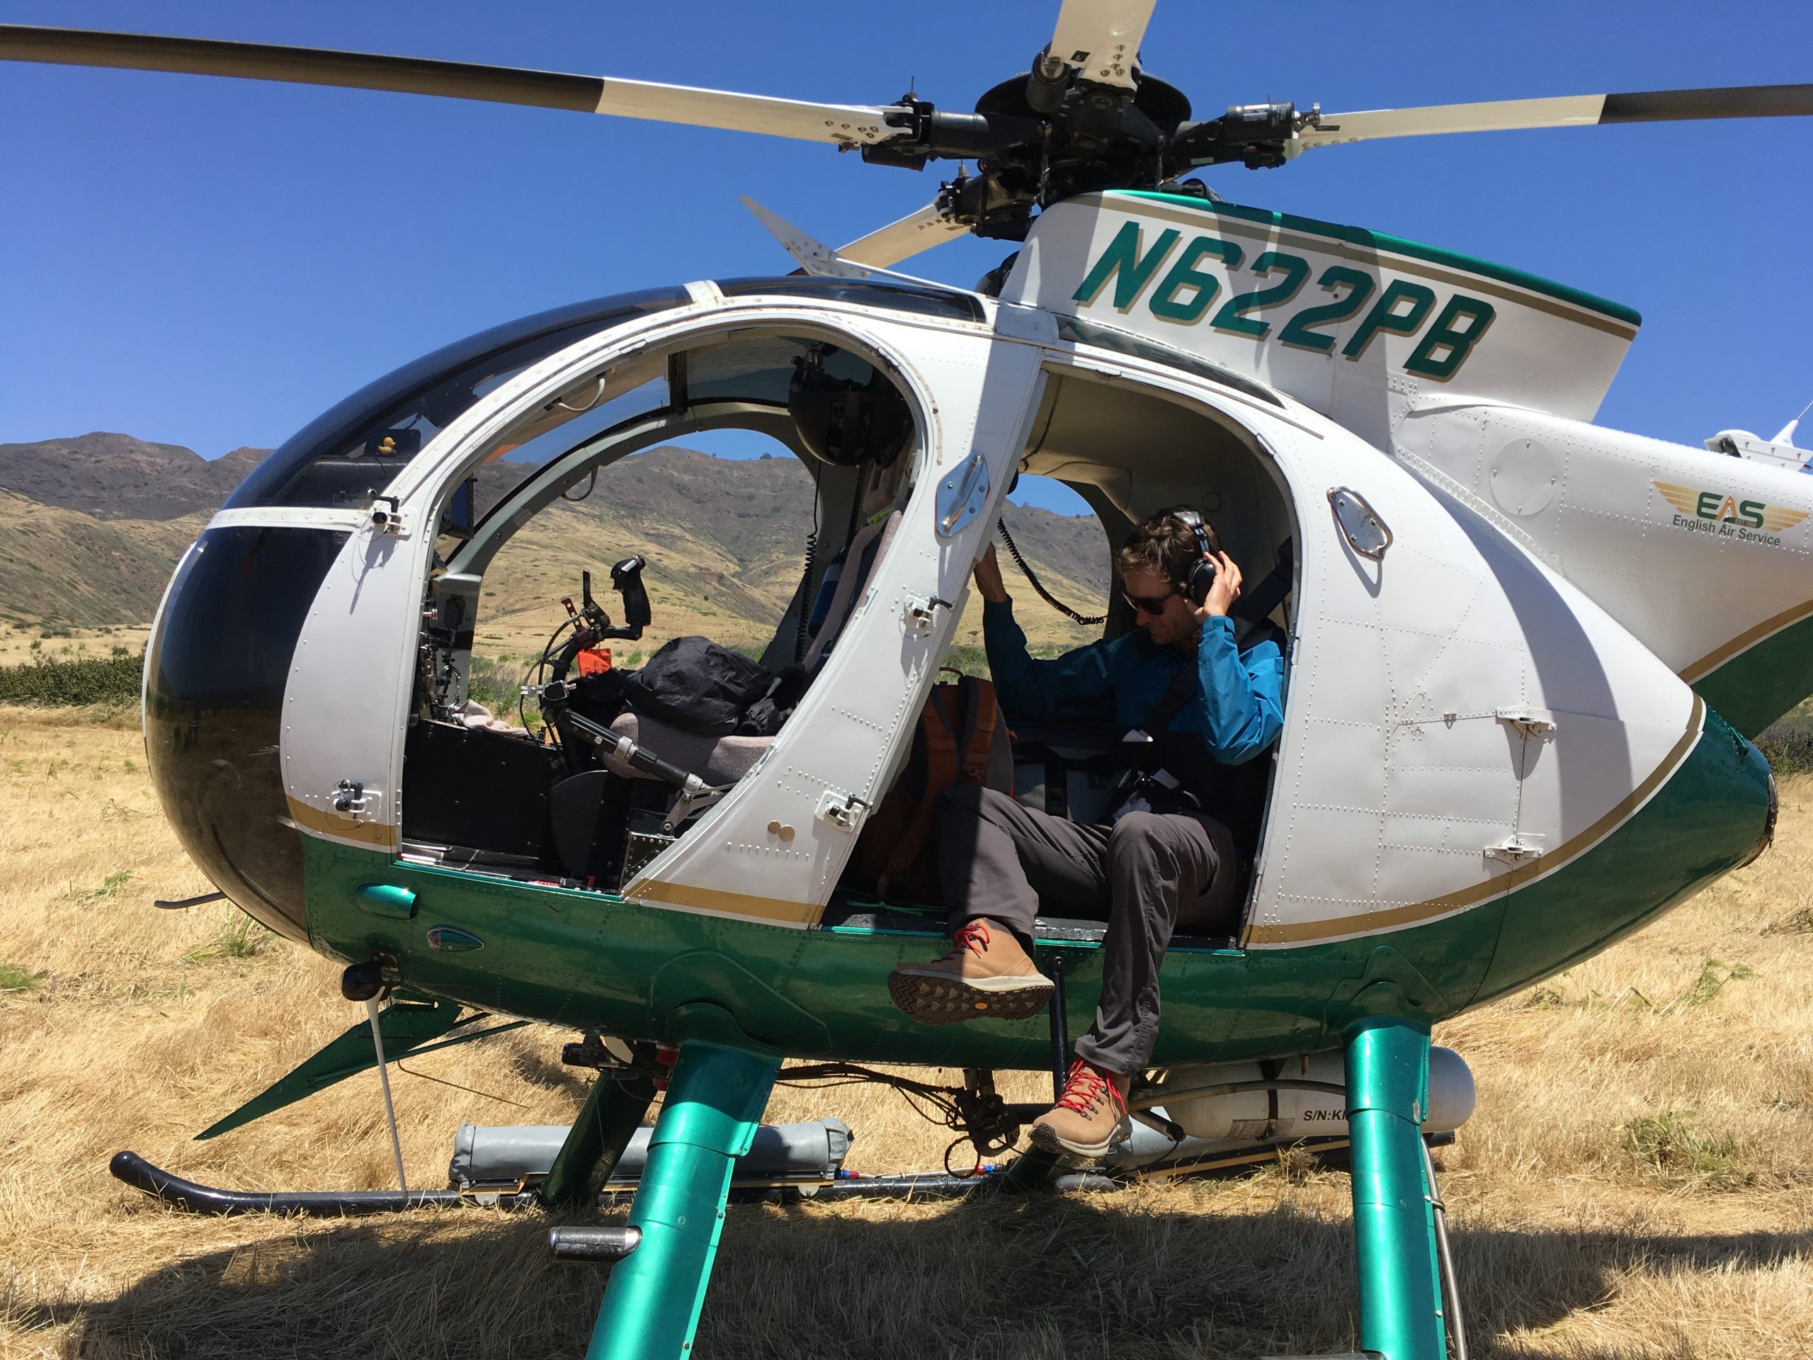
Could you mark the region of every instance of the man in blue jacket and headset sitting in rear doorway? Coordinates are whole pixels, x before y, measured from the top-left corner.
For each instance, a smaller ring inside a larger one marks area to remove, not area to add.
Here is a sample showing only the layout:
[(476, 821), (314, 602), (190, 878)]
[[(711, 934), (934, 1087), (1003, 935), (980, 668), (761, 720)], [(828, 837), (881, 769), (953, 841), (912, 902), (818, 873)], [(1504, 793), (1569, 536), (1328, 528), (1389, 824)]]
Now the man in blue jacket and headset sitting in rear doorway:
[[(1017, 1019), (1042, 1010), (1052, 981), (1032, 959), (1041, 898), (1099, 912), (1102, 997), (1077, 1043), (1055, 1108), (1033, 1124), (1052, 1151), (1099, 1157), (1128, 1137), (1126, 1093), (1159, 1037), (1159, 965), (1173, 930), (1229, 934), (1246, 890), (1262, 798), (1229, 778), (1284, 725), (1284, 655), (1271, 638), (1244, 651), (1229, 609), (1240, 568), (1191, 510), (1168, 510), (1122, 544), (1117, 569), (1137, 627), (1055, 660), (1033, 660), (1013, 622), (995, 549), (975, 566), (988, 667), (1008, 718), (1126, 724), (1142, 754), (1117, 783), (1106, 821), (1077, 825), (970, 783), (939, 796), (939, 879), (952, 950), (903, 963), (888, 994), (925, 1025)], [(1235, 825), (1251, 832), (1236, 836)]]

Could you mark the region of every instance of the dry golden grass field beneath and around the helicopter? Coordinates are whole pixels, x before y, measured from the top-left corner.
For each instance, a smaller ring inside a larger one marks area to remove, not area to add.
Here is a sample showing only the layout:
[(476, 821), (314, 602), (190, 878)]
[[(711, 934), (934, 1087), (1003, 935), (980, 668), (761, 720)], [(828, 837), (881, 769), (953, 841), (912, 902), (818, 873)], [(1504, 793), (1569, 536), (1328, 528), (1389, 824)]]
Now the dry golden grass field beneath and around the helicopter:
[[(604, 1284), (540, 1215), (192, 1219), (107, 1175), (390, 1180), (375, 1075), (212, 1142), (190, 1135), (359, 1019), (337, 968), (214, 905), (160, 816), (132, 714), (0, 711), (0, 1356), (578, 1356)], [(406, 1061), (412, 1180), (453, 1128), (549, 1122), (571, 1035)], [(1608, 954), (1443, 1026), (1479, 1112), (1440, 1155), (1476, 1356), (1813, 1355), (1813, 780), (1773, 852)], [(1032, 1099), (1044, 1079), (1021, 1079)], [(459, 1090), (442, 1083), (470, 1088)], [(939, 1162), (868, 1088), (852, 1166)], [(1256, 1356), (1352, 1345), (1347, 1180), (977, 1204), (734, 1208), (709, 1356)]]

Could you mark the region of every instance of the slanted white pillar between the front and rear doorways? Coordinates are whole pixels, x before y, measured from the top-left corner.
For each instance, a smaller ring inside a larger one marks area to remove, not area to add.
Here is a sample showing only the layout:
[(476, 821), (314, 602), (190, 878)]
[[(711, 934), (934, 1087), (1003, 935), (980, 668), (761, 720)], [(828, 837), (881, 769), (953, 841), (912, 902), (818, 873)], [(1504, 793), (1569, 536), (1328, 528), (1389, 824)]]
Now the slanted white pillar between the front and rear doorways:
[(879, 803), (936, 678), (1037, 404), (1037, 350), (852, 326), (917, 388), (919, 466), (892, 546), (760, 763), (624, 887), (651, 905), (812, 925)]

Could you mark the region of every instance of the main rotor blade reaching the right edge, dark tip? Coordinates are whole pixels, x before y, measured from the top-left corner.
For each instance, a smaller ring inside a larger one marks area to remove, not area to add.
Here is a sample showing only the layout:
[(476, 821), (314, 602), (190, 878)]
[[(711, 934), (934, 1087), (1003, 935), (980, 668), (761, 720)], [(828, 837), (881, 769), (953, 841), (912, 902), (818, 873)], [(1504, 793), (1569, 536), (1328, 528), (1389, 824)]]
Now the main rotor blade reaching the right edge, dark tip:
[(1333, 147), (1374, 138), (1416, 138), (1438, 132), (1499, 132), (1517, 127), (1586, 127), (1592, 123), (1661, 123), (1690, 118), (1793, 118), (1813, 114), (1813, 85), (1735, 85), (1670, 89), (1641, 94), (1568, 94), (1554, 100), (1436, 103), (1427, 109), (1369, 109), (1322, 114), (1298, 134), (1300, 147)]

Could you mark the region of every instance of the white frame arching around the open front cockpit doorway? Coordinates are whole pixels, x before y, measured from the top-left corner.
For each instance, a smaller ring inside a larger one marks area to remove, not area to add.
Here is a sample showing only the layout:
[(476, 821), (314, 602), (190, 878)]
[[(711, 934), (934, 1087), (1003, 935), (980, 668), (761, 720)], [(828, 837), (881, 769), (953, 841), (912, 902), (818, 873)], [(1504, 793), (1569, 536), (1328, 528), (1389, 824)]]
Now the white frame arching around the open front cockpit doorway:
[[(997, 345), (974, 328), (897, 325), (848, 308), (763, 308), (760, 321), (843, 332), (852, 348), (892, 364), (919, 424), (916, 482), (890, 549), (774, 745), (624, 894), (801, 927), (818, 919), (863, 818), (905, 758), (970, 566), (1012, 481), (1039, 374), (1035, 348)], [(711, 323), (694, 314), (654, 337), (647, 330), (638, 328), (647, 343), (684, 345)], [(444, 446), (426, 450), (392, 486), (397, 513), (388, 531), (364, 526), (330, 571), (288, 685), (294, 731), (308, 740), (285, 742), (286, 783), (303, 805), (297, 820), (317, 834), (397, 849), (401, 734), (433, 517), (466, 466), (513, 421), (631, 343), (611, 339), (575, 345), (473, 406), (435, 441)], [(952, 479), (963, 486), (946, 490)], [(957, 490), (965, 506), (952, 515)]]

